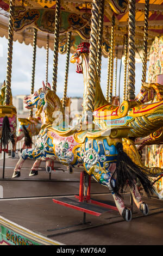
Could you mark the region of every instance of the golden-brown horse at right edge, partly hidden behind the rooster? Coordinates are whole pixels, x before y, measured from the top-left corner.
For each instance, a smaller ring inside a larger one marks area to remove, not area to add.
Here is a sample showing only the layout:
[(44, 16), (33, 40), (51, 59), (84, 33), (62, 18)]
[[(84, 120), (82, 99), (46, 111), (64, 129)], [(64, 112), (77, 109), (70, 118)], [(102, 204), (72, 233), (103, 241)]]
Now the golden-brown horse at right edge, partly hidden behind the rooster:
[[(143, 82), (140, 93), (137, 94), (135, 100), (141, 103), (149, 101), (152, 103), (160, 102), (163, 100), (163, 86), (159, 83)], [(142, 150), (145, 145), (163, 144), (162, 127), (146, 137), (136, 138), (135, 144), (137, 145), (137, 150)]]

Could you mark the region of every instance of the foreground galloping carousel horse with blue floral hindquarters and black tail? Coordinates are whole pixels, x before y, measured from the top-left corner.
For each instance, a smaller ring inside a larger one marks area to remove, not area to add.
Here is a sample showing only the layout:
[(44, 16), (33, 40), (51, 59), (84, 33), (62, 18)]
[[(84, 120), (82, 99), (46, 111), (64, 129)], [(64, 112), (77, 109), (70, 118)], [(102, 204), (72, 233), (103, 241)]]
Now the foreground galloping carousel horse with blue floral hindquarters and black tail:
[(143, 169), (123, 151), (122, 137), (127, 136), (130, 127), (116, 126), (97, 131), (83, 130), (81, 125), (70, 128), (59, 97), (45, 84), (26, 97), (24, 103), (28, 109), (39, 109), (42, 126), (35, 148), (22, 151), (12, 178), (20, 176), (26, 159), (36, 160), (37, 166), (41, 161), (58, 160), (65, 166), (82, 168), (108, 187), (124, 220), (131, 220), (131, 210), (125, 207), (121, 196), (126, 186), (129, 186), (137, 208), (144, 215), (148, 214), (148, 206), (142, 202), (136, 180), (140, 180), (148, 196), (153, 193), (153, 185)]

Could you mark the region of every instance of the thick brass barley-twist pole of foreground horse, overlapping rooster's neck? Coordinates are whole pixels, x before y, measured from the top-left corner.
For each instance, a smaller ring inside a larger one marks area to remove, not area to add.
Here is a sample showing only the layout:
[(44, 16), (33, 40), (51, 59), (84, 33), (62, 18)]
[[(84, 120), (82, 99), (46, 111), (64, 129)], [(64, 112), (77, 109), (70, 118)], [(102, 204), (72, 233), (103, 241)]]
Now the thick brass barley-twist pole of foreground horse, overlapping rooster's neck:
[(97, 38), (98, 38), (98, 17), (99, 17), (99, 1), (92, 1), (92, 17), (91, 17), (91, 33), (90, 33), (90, 53), (89, 68), (87, 79), (87, 94), (85, 96), (85, 117), (88, 120), (89, 114), (92, 117), (95, 100), (95, 82), (96, 82), (96, 55), (97, 55)]

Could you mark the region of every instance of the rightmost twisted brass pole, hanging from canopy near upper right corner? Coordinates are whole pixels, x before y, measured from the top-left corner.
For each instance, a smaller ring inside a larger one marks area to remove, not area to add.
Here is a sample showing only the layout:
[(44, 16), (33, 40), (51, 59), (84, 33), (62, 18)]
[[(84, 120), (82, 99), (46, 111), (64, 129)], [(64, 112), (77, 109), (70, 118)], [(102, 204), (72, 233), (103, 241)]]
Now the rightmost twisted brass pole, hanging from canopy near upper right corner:
[(145, 0), (145, 25), (144, 25), (144, 38), (143, 38), (142, 83), (146, 82), (146, 72), (147, 72), (148, 16), (149, 16), (149, 0)]

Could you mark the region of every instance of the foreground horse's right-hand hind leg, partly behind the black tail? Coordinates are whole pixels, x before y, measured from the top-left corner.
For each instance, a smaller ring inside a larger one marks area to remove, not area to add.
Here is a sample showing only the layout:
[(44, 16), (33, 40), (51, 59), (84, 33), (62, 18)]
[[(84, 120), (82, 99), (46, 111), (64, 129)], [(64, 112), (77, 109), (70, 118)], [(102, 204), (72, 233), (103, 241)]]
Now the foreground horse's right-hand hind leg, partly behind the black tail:
[(135, 181), (135, 187), (130, 187), (130, 192), (133, 196), (133, 200), (137, 208), (143, 213), (143, 215), (148, 215), (148, 205), (142, 201), (141, 195), (136, 186), (136, 181)]

